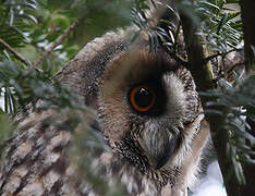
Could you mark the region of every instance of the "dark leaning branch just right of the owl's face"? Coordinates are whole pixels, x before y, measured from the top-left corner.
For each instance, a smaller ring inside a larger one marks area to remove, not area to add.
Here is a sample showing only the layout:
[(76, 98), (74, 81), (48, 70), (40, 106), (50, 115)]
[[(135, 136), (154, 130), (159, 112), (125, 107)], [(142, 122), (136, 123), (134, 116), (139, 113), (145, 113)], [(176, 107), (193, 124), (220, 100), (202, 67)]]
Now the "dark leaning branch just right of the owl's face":
[[(191, 71), (198, 91), (207, 91), (215, 88), (211, 65), (209, 61), (205, 61), (206, 48), (203, 48), (199, 37), (195, 34), (198, 26), (194, 24), (192, 19), (185, 12), (181, 12), (181, 23), (183, 27), (184, 41), (189, 59), (189, 70)], [(208, 108), (206, 102), (215, 98), (202, 97), (204, 109)], [(212, 100), (217, 101), (217, 100)], [(217, 108), (222, 112), (222, 108)], [(227, 158), (228, 131), (224, 128), (226, 119), (220, 115), (209, 115), (205, 113), (206, 120), (210, 124), (210, 133), (217, 151), (219, 164), (223, 174), (227, 193), (230, 196), (241, 196), (239, 180), (233, 173), (233, 166)], [(231, 175), (231, 177), (229, 177)]]

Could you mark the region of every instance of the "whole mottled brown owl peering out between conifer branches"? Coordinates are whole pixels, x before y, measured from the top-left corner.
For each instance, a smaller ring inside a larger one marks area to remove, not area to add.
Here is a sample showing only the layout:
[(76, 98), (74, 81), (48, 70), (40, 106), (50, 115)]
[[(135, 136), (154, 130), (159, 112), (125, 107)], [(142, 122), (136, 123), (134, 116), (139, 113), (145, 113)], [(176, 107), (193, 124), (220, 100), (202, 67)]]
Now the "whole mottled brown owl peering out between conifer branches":
[[(87, 126), (98, 124), (95, 132), (107, 146), (95, 154), (92, 171), (98, 169), (109, 186), (122, 184), (125, 195), (184, 196), (208, 137), (203, 109), (191, 73), (163, 48), (150, 51), (145, 34), (133, 41), (136, 32), (94, 39), (56, 79), (96, 111), (82, 115)], [(53, 108), (16, 117), (1, 195), (100, 195), (70, 156), (75, 139), (63, 126), (69, 117)]]

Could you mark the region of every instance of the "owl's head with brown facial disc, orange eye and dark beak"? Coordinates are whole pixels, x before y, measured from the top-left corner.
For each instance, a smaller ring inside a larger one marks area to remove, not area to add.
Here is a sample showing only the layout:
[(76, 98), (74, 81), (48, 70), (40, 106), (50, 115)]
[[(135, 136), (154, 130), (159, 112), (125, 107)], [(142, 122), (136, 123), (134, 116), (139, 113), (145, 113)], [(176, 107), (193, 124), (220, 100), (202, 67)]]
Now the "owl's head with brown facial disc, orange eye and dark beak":
[(191, 154), (203, 119), (201, 102), (191, 73), (165, 48), (151, 51), (145, 36), (132, 41), (134, 32), (94, 39), (73, 60), (80, 72), (66, 75), (97, 110), (112, 154), (166, 184)]

